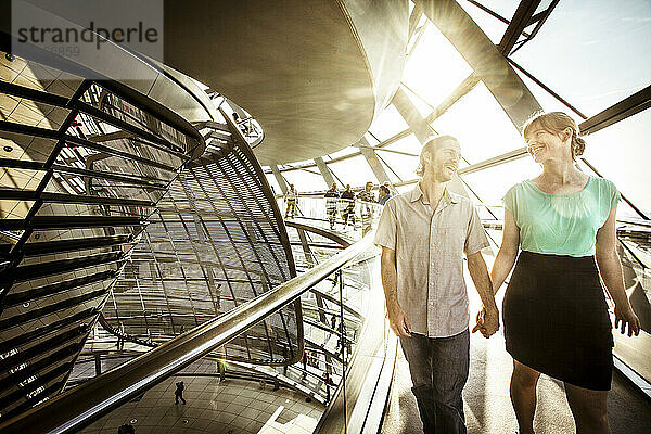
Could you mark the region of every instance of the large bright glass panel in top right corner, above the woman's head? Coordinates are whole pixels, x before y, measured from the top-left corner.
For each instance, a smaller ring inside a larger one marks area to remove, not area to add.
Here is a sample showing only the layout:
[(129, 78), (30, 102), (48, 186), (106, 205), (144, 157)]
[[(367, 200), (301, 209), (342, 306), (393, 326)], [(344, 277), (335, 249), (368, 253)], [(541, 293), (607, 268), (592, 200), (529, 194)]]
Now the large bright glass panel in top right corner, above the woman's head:
[(561, 1), (513, 59), (591, 116), (649, 85), (649, 16), (648, 1)]

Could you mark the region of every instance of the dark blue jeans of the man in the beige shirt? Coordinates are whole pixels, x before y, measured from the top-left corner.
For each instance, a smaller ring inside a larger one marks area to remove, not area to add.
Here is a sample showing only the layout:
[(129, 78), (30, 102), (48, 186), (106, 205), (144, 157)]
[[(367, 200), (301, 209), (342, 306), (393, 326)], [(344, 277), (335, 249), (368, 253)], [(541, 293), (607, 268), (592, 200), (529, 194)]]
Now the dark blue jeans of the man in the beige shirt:
[(465, 433), (461, 391), (468, 381), (470, 333), (400, 337), (424, 433)]

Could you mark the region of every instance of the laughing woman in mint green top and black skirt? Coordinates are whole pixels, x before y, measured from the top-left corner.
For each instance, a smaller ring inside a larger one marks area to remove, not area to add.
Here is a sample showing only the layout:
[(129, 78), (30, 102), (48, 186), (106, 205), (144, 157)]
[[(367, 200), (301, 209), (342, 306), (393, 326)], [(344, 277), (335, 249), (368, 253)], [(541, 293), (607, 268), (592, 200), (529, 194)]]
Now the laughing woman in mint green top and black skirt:
[(575, 167), (586, 143), (566, 114), (540, 114), (523, 136), (542, 174), (505, 195), (502, 244), (490, 273), (497, 292), (518, 256), (503, 324), (520, 433), (534, 432), (540, 372), (564, 382), (577, 433), (610, 433), (613, 337), (600, 276), (615, 303), (615, 327), (621, 322), (624, 333), (628, 326), (629, 336), (640, 330), (615, 248), (621, 196), (611, 181)]

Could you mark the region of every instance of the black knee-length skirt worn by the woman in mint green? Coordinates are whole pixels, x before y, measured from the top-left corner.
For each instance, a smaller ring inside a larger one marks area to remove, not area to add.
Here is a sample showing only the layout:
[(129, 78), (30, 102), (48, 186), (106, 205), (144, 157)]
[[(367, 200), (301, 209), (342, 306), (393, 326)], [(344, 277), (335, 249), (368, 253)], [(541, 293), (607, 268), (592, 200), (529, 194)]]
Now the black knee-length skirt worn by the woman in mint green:
[(521, 252), (502, 312), (513, 359), (569, 384), (610, 390), (612, 324), (595, 257)]

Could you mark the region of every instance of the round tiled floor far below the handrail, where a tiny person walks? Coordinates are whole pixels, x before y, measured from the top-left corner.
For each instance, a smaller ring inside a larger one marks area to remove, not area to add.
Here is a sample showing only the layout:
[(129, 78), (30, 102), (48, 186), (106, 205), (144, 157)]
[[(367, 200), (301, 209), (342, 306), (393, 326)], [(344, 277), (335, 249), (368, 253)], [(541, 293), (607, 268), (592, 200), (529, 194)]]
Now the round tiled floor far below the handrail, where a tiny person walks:
[[(183, 381), (187, 404), (175, 405), (175, 383)], [(298, 414), (318, 420), (324, 408), (306, 403), (296, 392), (257, 382), (210, 376), (175, 376), (148, 391), (139, 401), (127, 403), (81, 431), (84, 434), (116, 434), (131, 423), (137, 434), (212, 433), (256, 434), (279, 407), (276, 419), (286, 423)]]

